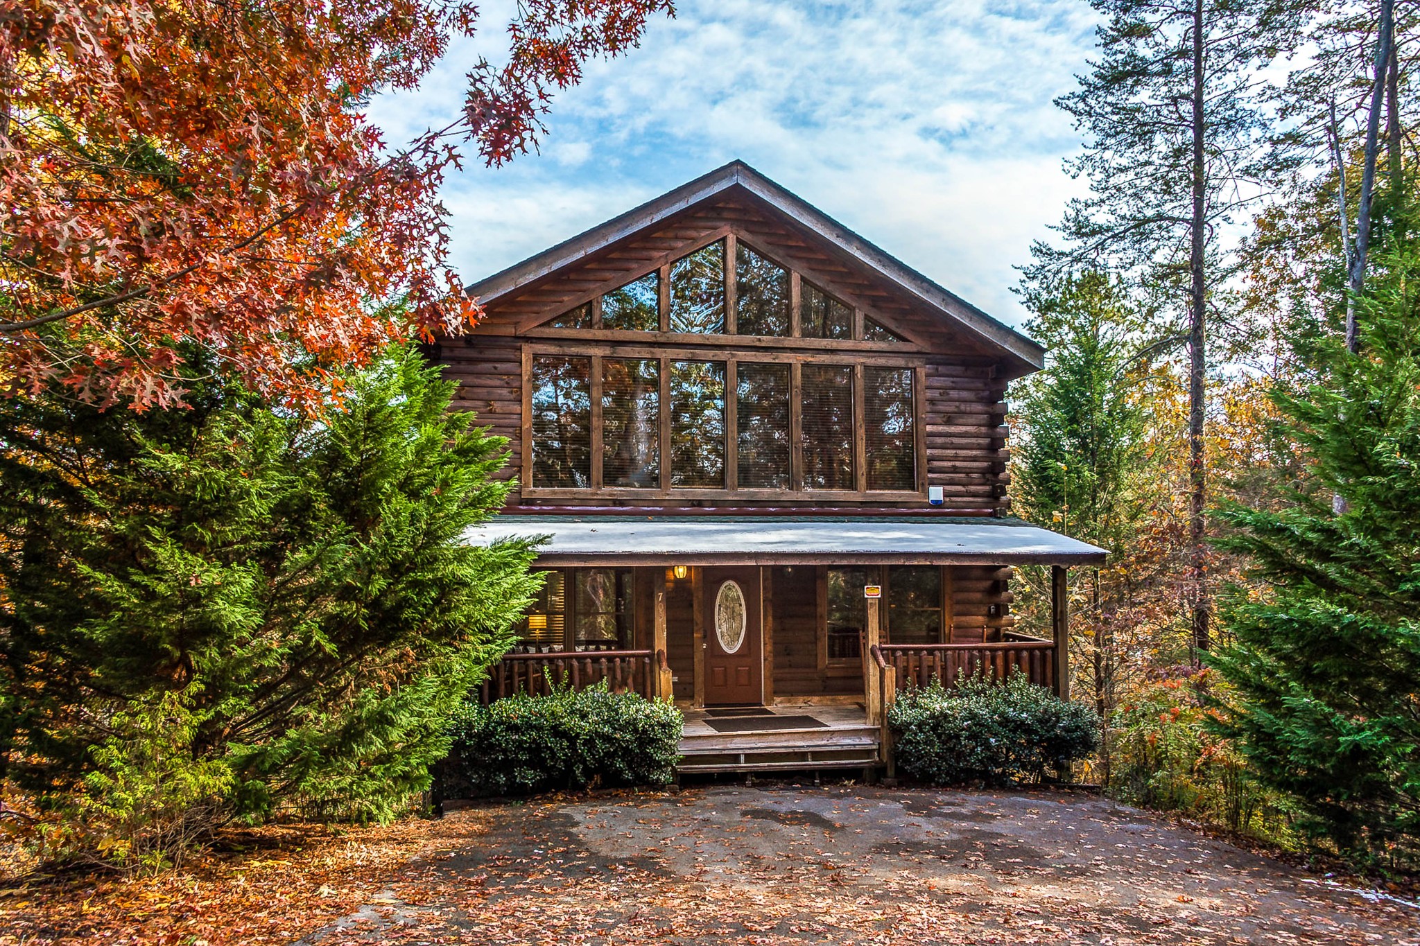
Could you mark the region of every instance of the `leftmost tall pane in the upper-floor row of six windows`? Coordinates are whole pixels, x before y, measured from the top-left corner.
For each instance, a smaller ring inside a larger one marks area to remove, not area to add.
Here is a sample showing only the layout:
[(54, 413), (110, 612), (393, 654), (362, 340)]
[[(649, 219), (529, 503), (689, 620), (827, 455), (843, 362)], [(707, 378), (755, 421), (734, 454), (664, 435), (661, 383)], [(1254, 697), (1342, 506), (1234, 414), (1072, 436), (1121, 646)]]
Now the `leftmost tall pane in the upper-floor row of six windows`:
[(592, 359), (532, 359), (532, 485), (585, 489), (592, 469)]

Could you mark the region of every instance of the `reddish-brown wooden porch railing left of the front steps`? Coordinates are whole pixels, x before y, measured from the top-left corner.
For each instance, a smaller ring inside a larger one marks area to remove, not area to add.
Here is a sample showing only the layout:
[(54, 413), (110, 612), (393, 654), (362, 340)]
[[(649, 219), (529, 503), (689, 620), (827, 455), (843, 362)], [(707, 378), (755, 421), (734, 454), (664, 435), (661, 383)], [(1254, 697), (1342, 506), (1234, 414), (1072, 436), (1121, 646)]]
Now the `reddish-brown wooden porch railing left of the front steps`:
[[(548, 651), (504, 654), (483, 684), (481, 699), (525, 692), (545, 696), (552, 686), (585, 689), (606, 681), (613, 694), (635, 692), (657, 696), (657, 681), (667, 677), (666, 651)], [(669, 694), (666, 694), (669, 696)]]

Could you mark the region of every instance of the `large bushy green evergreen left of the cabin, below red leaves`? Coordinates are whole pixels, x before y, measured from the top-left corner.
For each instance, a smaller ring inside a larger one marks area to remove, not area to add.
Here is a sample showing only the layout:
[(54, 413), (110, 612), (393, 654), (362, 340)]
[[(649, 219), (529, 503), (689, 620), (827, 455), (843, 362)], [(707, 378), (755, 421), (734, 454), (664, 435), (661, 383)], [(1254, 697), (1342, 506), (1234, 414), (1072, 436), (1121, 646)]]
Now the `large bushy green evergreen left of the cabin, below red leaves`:
[(0, 774), (116, 821), (143, 786), (389, 817), (535, 586), (528, 545), (463, 540), (506, 444), (412, 350), (318, 420), (190, 377), (185, 410), (0, 401)]

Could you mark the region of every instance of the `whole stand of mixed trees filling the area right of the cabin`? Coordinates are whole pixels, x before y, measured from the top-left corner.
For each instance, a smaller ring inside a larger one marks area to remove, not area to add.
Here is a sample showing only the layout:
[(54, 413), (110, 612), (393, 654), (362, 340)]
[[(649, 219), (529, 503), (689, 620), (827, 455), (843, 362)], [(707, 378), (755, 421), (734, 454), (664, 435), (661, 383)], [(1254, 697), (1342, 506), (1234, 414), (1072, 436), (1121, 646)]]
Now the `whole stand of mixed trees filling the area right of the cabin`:
[[(1411, 4), (1096, 0), (1062, 96), (1089, 182), (1021, 294), (1014, 511), (1071, 576), (1091, 780), (1289, 848), (1414, 864)], [(1048, 574), (1022, 572), (1027, 625)]]

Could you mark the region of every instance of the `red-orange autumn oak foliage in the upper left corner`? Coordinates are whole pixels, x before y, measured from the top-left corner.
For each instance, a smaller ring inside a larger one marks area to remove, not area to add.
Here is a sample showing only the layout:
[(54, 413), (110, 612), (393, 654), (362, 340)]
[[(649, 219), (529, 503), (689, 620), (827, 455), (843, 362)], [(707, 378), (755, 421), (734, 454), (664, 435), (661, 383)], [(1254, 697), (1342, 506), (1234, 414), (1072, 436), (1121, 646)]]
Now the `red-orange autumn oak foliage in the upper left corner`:
[[(135, 407), (182, 399), (183, 346), (301, 401), (329, 366), (479, 312), (437, 200), (460, 148), (537, 146), (555, 91), (670, 0), (524, 0), (508, 60), (399, 149), (362, 113), (408, 89), (463, 0), (0, 3), (0, 373)], [(398, 304), (398, 305), (390, 305)]]

